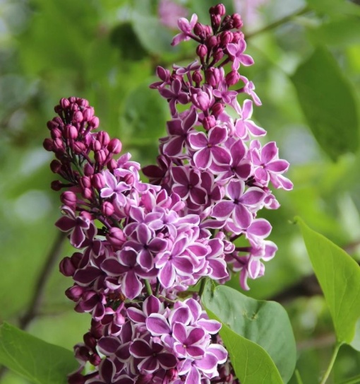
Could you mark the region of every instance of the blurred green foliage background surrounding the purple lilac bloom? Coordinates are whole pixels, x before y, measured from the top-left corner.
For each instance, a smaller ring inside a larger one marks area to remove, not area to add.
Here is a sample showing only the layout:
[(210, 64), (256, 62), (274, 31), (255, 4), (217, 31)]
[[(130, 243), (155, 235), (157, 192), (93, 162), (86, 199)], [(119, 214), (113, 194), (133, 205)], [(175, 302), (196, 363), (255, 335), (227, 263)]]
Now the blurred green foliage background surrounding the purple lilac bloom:
[[(181, 1), (189, 16), (196, 11), (204, 23), (215, 3)], [(225, 3), (234, 11), (232, 1)], [(244, 20), (248, 53), (256, 64), (242, 73), (263, 101), (254, 116), (268, 139), (277, 141), (280, 156), (292, 163), (288, 175), (294, 182), (292, 192), (275, 191), (281, 208), (263, 214), (272, 223), (271, 240), (279, 251), (265, 277), (251, 281), (248, 294), (255, 298), (286, 293), (312, 273), (299, 229), (291, 224), (295, 215), (359, 261), (356, 3), (268, 0), (256, 18)], [(88, 98), (102, 129), (119, 137), (124, 151), (142, 165), (154, 163), (169, 115), (166, 101), (148, 85), (157, 65), (186, 64), (194, 57), (191, 42), (170, 46), (174, 33), (159, 23), (157, 1), (0, 1), (0, 320), (16, 324), (25, 312), (56, 238), (59, 194), (49, 189), (52, 156), (42, 149), (54, 105), (70, 95)], [(313, 129), (314, 119), (320, 119), (321, 136)], [(90, 320), (73, 313), (64, 296), (70, 285), (57, 269), (52, 272), (41, 312), (29, 328), (67, 349), (81, 341)], [(231, 285), (238, 287), (236, 277)], [(284, 306), (294, 327), (301, 378), (315, 383), (335, 340), (330, 315), (321, 296), (295, 297)], [(328, 383), (359, 375), (359, 367), (359, 354), (344, 347)], [(1, 379), (1, 384), (24, 383), (13, 373)]]

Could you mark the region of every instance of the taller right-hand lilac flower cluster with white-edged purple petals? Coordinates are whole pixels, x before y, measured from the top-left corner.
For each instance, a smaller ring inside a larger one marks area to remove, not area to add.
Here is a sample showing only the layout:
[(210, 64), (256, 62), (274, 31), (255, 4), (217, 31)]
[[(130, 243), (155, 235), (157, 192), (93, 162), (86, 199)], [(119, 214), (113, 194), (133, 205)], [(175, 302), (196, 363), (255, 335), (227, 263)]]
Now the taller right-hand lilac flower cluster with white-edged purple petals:
[[(275, 142), (262, 146), (256, 139), (266, 131), (251, 120), (253, 102), (261, 102), (252, 81), (238, 71), (253, 64), (244, 53), (241, 17), (226, 16), (219, 4), (210, 8), (210, 18), (211, 25), (198, 23), (196, 14), (191, 21), (180, 18), (181, 33), (172, 41), (196, 41), (198, 60), (174, 65), (172, 72), (157, 68), (160, 81), (151, 87), (167, 99), (172, 120), (168, 136), (160, 139), (158, 165), (143, 172), (154, 184), (179, 194), (186, 202), (184, 212), (197, 214), (203, 230), (230, 241), (248, 240), (248, 246), (234, 247), (225, 257), (228, 267), (241, 271), (241, 286), (248, 289), (247, 279), (262, 276), (263, 261), (277, 250), (265, 240), (270, 223), (257, 218), (257, 212), (280, 205), (270, 182), (284, 190), (291, 190), (292, 182), (283, 175), (289, 163), (279, 158)], [(252, 100), (245, 98), (240, 105), (240, 93)]]

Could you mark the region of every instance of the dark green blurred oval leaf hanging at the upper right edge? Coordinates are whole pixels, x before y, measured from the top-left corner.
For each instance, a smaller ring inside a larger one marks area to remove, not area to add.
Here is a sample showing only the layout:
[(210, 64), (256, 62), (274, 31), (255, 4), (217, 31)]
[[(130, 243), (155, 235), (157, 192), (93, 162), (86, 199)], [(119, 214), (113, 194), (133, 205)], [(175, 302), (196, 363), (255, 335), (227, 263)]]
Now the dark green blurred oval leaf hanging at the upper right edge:
[(333, 160), (359, 147), (359, 117), (352, 86), (325, 47), (316, 48), (292, 76), (308, 125)]

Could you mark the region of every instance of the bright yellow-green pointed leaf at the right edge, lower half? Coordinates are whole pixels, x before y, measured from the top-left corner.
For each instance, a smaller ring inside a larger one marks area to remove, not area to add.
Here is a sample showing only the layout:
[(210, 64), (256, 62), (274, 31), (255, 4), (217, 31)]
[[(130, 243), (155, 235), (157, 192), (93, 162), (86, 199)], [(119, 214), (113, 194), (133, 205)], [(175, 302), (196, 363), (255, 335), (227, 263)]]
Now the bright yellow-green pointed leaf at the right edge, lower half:
[[(296, 218), (330, 310), (338, 342), (359, 349), (360, 267), (347, 252)], [(357, 323), (357, 324), (356, 324)]]

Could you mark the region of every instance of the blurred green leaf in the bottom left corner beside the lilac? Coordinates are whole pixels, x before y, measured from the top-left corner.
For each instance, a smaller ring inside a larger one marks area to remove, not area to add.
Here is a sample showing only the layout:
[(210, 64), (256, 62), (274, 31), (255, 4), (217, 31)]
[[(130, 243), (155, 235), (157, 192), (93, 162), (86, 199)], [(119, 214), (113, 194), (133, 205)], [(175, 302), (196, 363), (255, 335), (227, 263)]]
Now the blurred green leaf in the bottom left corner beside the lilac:
[(0, 325), (0, 363), (35, 384), (66, 384), (78, 368), (73, 353), (19, 330)]

